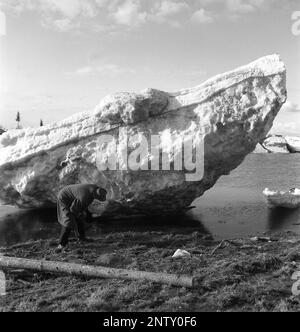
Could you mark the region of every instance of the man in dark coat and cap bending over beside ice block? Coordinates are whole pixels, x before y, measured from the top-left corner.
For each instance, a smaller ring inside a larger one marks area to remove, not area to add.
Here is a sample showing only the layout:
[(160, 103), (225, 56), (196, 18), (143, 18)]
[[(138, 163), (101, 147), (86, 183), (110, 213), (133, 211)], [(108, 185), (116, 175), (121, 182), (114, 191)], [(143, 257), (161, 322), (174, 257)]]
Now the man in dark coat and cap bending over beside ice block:
[(84, 220), (92, 221), (88, 207), (93, 201), (105, 202), (107, 191), (93, 184), (76, 184), (63, 188), (57, 197), (57, 217), (62, 225), (58, 251), (63, 251), (69, 242), (72, 229), (80, 242), (85, 237)]

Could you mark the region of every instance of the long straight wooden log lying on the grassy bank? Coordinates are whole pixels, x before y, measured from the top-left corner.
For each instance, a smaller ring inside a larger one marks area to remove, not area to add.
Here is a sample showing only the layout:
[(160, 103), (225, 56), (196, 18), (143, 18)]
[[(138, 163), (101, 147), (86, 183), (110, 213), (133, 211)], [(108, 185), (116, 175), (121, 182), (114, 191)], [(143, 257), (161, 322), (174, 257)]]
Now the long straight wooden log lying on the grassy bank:
[(5, 256), (0, 256), (0, 269), (1, 268), (23, 269), (35, 272), (72, 275), (88, 278), (145, 280), (187, 288), (194, 287), (197, 282), (196, 278), (183, 275), (114, 269), (103, 266), (89, 266)]

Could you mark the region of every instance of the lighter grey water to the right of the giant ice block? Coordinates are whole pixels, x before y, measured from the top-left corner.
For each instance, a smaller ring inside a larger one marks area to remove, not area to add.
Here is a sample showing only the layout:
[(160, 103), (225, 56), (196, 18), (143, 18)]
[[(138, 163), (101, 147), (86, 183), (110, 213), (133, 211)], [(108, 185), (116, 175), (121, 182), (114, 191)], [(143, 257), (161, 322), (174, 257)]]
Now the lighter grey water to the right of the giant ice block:
[(267, 231), (300, 233), (300, 209), (270, 210), (265, 188), (300, 188), (300, 154), (252, 154), (230, 176), (193, 204), (193, 213), (218, 238), (259, 236)]

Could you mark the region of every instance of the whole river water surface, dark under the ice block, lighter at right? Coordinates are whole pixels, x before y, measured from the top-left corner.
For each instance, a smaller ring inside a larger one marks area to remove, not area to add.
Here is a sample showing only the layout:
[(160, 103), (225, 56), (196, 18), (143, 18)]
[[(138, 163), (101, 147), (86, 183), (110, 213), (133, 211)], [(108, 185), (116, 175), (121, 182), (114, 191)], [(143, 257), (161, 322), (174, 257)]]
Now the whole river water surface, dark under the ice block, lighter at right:
[[(93, 225), (90, 235), (110, 231), (186, 232), (198, 230), (216, 238), (260, 235), (291, 230), (300, 234), (300, 209), (270, 209), (262, 195), (266, 188), (300, 188), (300, 154), (252, 154), (229, 176), (194, 202), (186, 216)], [(0, 207), (0, 246), (57, 237), (55, 210), (18, 211)]]

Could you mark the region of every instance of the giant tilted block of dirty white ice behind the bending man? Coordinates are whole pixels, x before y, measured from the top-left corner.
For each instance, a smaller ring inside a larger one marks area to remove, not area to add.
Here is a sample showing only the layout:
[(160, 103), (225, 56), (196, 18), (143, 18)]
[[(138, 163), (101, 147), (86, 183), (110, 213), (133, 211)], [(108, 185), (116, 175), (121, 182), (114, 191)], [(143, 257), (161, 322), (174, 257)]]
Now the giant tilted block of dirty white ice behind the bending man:
[[(97, 207), (106, 216), (183, 211), (254, 151), (285, 101), (285, 66), (272, 55), (195, 88), (116, 94), (92, 112), (38, 129), (9, 131), (0, 138), (1, 202), (55, 206), (63, 186), (95, 183), (109, 191), (109, 202)], [(113, 140), (100, 149), (103, 135)], [(159, 147), (170, 150), (169, 159), (177, 166), (183, 137), (193, 141), (196, 151), (203, 143), (203, 176), (187, 181), (192, 169), (162, 171), (162, 162), (160, 171), (146, 170), (154, 152), (138, 146), (151, 135), (160, 136)], [(99, 168), (103, 159), (111, 162), (117, 156), (116, 142), (119, 148), (128, 145), (129, 160), (139, 163), (139, 170), (121, 162), (117, 170)]]

